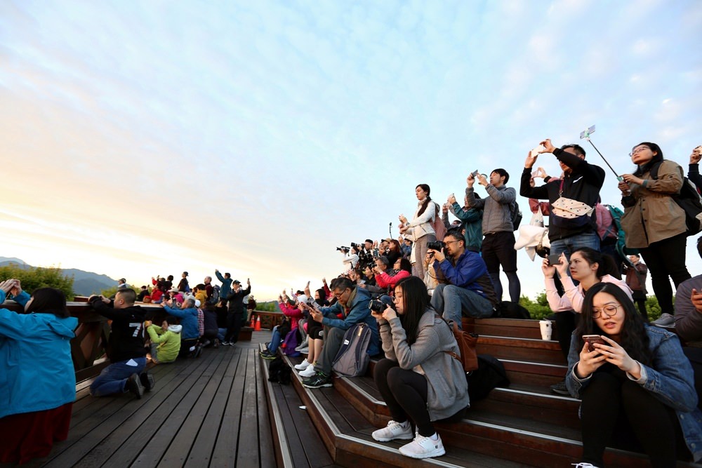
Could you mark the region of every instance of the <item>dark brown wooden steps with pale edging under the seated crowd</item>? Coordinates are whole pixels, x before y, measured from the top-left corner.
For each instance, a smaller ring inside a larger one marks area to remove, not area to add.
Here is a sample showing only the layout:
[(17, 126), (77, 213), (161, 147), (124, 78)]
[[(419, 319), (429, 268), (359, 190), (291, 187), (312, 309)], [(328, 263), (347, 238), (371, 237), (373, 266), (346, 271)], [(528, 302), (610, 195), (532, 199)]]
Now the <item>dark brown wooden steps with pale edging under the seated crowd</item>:
[[(441, 467), (568, 467), (580, 461), (579, 401), (552, 395), (548, 388), (562, 380), (567, 370), (558, 342), (541, 340), (538, 321), (532, 320), (464, 319), (463, 329), (479, 333), (478, 354), (500, 359), (512, 384), (471, 402), (461, 422), (436, 424), (446, 455), (435, 459), (412, 460), (397, 451), (401, 443), (378, 443), (371, 438), (371, 432), (390, 420), (371, 377), (374, 361), (365, 376), (336, 377), (333, 388), (307, 389), (293, 370), (292, 385), (335, 464), (352, 468), (427, 463)], [(301, 360), (288, 359), (288, 363), (292, 366)], [(607, 449), (604, 460), (607, 467), (650, 466), (645, 455), (614, 448)], [(678, 466), (702, 467), (682, 462)]]

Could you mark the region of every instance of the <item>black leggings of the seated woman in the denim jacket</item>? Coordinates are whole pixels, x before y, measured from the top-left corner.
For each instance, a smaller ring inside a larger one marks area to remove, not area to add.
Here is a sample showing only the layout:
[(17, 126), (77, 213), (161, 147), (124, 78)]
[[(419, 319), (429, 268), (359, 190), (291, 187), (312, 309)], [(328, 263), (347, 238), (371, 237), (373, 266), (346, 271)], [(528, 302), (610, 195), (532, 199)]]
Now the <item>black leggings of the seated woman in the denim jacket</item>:
[(675, 468), (676, 452), (690, 456), (673, 408), (616, 366), (606, 363), (595, 371), (581, 395), (583, 462), (604, 466), (604, 448), (613, 436), (629, 450), (643, 449), (655, 468)]

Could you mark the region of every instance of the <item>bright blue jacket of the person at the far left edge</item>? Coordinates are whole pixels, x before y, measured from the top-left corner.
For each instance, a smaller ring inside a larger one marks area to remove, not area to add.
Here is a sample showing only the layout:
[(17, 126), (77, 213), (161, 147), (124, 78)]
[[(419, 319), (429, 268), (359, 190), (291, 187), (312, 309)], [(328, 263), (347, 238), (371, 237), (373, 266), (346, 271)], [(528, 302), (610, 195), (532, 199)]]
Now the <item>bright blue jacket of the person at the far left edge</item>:
[[(22, 292), (15, 301), (23, 306), (29, 294)], [(0, 418), (75, 401), (71, 339), (77, 326), (75, 317), (0, 309)]]

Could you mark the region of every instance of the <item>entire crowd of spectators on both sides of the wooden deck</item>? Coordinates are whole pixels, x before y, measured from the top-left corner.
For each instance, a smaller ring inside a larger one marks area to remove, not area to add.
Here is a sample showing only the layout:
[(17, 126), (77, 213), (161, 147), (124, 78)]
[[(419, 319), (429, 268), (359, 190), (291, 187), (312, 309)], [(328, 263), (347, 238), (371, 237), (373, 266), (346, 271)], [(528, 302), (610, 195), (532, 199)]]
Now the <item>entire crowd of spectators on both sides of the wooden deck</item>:
[[(562, 173), (550, 177), (543, 168), (534, 170), (541, 154), (552, 154)], [(644, 450), (655, 467), (702, 457), (702, 275), (691, 278), (687, 270), (689, 227), (676, 199), (687, 182), (682, 167), (663, 159), (654, 143), (635, 145), (630, 156), (634, 170), (616, 182), (624, 208), (621, 219), (602, 209), (605, 171), (586, 160), (579, 145), (555, 147), (543, 140), (529, 152), (519, 180), (519, 196), (529, 199), (534, 220), (548, 216), (548, 236), (532, 247), (543, 256), (548, 304), (569, 363), (564, 380), (552, 391), (582, 401), (581, 467), (604, 466), (604, 449), (614, 442)], [(698, 189), (701, 158), (698, 147), (687, 175)], [(329, 284), (323, 280), (314, 293), (307, 283), (304, 290), (279, 296), (289, 321), (274, 328), (261, 355), (272, 359), (284, 344), (286, 354), (306, 355), (296, 366), (305, 387), (331, 387), (333, 361), (345, 332), (364, 324), (370, 330), (367, 353), (380, 358), (373, 377), (392, 415), (387, 427), (373, 432), (373, 439), (409, 441), (399, 448), (408, 457), (443, 455), (435, 422), (460, 420), (470, 406), (465, 373), (453, 357), (458, 345), (449, 324), (460, 328), (465, 316), (494, 316), (503, 302), (517, 304), (521, 295), (515, 238), (521, 215), (517, 190), (508, 187), (509, 180), (503, 168), (489, 175), (470, 173), (463, 206), (453, 194), (440, 206), (432, 201), (428, 185), (417, 185), (412, 218), (399, 215), (399, 239), (366, 239), (340, 247), (343, 274)], [(482, 196), (475, 182), (483, 187)], [(702, 248), (698, 250), (702, 255)], [(501, 270), (508, 301), (503, 301)], [(644, 303), (647, 274), (663, 312), (654, 323), (649, 323)], [(237, 342), (247, 319), (245, 297), (251, 283), (247, 280), (243, 288), (230, 274), (216, 271), (221, 285), (213, 286), (207, 276), (191, 289), (187, 277), (183, 272), (174, 287), (173, 276), (157, 276), (153, 288), (143, 286), (139, 295), (122, 279), (113, 298), (90, 298), (95, 311), (112, 320), (110, 366), (91, 385), (93, 396), (132, 392), (140, 398), (155, 383), (145, 372), (147, 353), (154, 363), (164, 364), (178, 357), (197, 358), (204, 347)], [(671, 279), (677, 288), (675, 307)], [(0, 357), (7, 361), (12, 347), (24, 349), (32, 333), (44, 333), (48, 338), (42, 340), (47, 347), (42, 359), (67, 366), (76, 323), (67, 314), (65, 297), (55, 290), (37, 290), (30, 298), (16, 280), (0, 283), (0, 298), (6, 294), (32, 314), (0, 310)], [(380, 310), (369, 308), (376, 299)], [(166, 317), (160, 326), (147, 320), (137, 300), (161, 304)], [(665, 328), (672, 325), (677, 325), (677, 334)], [(288, 341), (289, 335), (299, 339)], [(46, 385), (65, 387), (66, 392), (56, 392), (37, 407), (32, 392), (15, 394), (25, 389), (24, 382), (32, 382), (31, 375), (0, 375), (0, 388), (11, 388), (11, 404), (0, 406), (0, 411), (9, 408), (0, 412), (0, 428), (12, 427), (14, 435), (16, 427), (41, 421), (45, 430), (37, 437), (43, 438), (42, 447), (46, 440), (65, 438), (72, 404), (69, 387), (75, 382), (51, 378), (41, 377)], [(9, 440), (10, 445), (0, 441), (0, 461), (37, 456), (18, 451), (17, 439)]]

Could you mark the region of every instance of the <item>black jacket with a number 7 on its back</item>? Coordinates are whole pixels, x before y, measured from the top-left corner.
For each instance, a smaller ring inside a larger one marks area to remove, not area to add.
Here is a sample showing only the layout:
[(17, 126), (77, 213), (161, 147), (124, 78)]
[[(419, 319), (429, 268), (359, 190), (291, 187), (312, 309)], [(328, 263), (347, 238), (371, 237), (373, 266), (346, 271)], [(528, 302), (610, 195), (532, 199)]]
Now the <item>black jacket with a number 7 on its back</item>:
[(98, 314), (112, 320), (112, 333), (110, 342), (107, 343), (107, 357), (112, 362), (126, 361), (127, 359), (146, 356), (144, 347), (144, 320), (146, 311), (138, 305), (125, 309), (114, 309), (112, 305), (105, 304), (100, 297), (93, 297), (90, 305)]

